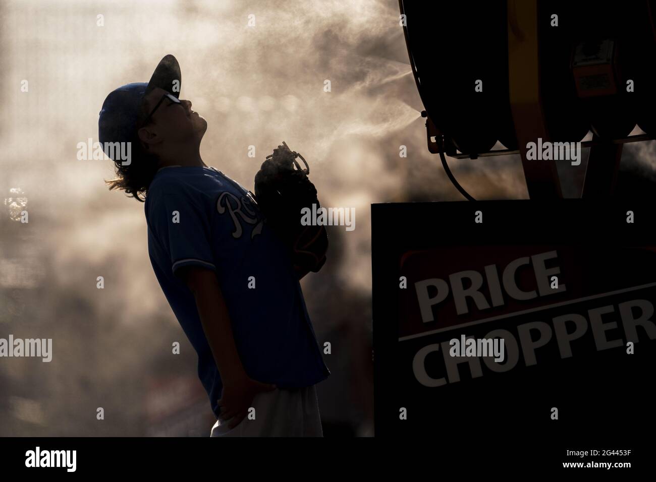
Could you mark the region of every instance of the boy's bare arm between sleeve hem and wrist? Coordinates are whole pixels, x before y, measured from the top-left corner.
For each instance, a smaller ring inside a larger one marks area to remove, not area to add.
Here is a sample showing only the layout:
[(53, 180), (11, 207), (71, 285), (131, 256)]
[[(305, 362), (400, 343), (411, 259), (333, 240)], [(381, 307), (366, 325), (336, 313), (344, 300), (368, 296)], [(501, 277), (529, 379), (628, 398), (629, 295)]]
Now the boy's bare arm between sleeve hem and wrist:
[(192, 292), (221, 379), (225, 383), (244, 376), (245, 371), (232, 334), (230, 314), (215, 273), (194, 287)]

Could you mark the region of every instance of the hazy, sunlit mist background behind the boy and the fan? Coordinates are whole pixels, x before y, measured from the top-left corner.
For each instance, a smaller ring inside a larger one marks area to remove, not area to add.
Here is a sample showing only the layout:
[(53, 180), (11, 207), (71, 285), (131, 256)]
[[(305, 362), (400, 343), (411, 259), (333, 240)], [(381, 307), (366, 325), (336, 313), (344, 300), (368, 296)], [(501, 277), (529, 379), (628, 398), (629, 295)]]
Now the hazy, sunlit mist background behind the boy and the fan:
[[(208, 122), (205, 163), (252, 189), (285, 140), (322, 205), (356, 208), (356, 230), (330, 228), (327, 264), (302, 287), (319, 344), (333, 346), (318, 386), (325, 435), (373, 435), (370, 204), (462, 199), (426, 149), (398, 15), (394, 0), (0, 1), (0, 338), (53, 339), (51, 363), (0, 358), (0, 435), (209, 435), (143, 205), (107, 190), (110, 161), (76, 158), (78, 142), (98, 140), (106, 95), (148, 81), (169, 53), (180, 98)], [(567, 197), (580, 194), (586, 157), (559, 165)], [(651, 142), (627, 146), (622, 176), (656, 179), (654, 159)], [(527, 197), (518, 156), (449, 164), (476, 199)]]

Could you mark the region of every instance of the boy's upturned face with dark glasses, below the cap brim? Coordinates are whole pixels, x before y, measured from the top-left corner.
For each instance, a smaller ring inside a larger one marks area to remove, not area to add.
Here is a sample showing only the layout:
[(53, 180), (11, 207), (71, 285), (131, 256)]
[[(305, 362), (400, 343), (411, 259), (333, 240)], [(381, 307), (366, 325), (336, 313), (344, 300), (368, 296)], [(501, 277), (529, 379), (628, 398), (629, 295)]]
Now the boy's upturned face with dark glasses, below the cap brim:
[[(152, 111), (163, 95), (164, 89), (152, 90), (144, 98), (146, 115)], [(147, 125), (139, 129), (139, 137), (146, 144), (178, 144), (199, 142), (207, 130), (207, 121), (192, 110), (192, 102), (180, 99), (180, 104), (165, 98)]]

